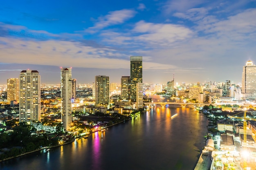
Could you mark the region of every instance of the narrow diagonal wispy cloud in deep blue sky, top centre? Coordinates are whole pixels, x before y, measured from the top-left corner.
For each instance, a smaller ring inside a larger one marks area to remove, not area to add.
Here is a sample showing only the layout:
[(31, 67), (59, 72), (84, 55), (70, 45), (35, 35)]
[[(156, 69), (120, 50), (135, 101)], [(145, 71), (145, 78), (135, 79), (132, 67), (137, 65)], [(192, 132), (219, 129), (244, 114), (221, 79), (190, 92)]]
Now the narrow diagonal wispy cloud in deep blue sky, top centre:
[(129, 9), (122, 9), (119, 11), (111, 11), (108, 15), (98, 18), (98, 22), (94, 26), (86, 29), (86, 32), (95, 33), (100, 29), (106, 28), (111, 25), (122, 24), (124, 21), (132, 18), (136, 14), (136, 11)]

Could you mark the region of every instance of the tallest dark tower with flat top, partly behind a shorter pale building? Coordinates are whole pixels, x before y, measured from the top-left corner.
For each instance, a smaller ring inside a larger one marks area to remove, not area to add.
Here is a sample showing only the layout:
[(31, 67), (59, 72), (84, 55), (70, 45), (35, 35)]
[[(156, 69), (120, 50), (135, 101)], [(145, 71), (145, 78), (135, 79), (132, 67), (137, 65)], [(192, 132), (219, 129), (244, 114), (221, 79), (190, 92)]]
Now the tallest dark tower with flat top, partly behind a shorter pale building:
[(142, 56), (131, 56), (130, 57), (130, 87), (131, 94), (130, 98), (136, 100), (136, 84), (142, 83)]

